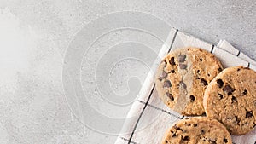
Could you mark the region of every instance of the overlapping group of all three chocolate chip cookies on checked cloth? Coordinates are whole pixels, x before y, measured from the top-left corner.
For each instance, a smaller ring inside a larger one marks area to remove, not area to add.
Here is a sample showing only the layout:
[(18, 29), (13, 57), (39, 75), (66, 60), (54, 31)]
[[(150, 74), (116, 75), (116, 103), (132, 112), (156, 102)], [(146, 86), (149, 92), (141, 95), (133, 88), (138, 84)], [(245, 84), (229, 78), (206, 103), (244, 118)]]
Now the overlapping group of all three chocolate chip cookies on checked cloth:
[(178, 49), (161, 61), (156, 89), (160, 99), (185, 118), (166, 131), (163, 144), (226, 143), (256, 126), (256, 72), (223, 69), (211, 53)]

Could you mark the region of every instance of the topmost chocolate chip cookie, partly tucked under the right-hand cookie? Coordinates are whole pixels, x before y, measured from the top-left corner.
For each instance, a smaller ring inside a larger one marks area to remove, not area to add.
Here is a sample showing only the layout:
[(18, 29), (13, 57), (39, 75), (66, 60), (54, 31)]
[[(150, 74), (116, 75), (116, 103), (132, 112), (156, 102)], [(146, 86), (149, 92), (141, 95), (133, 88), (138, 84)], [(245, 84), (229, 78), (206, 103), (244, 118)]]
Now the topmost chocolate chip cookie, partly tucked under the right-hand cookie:
[(219, 60), (203, 49), (184, 48), (166, 55), (156, 74), (160, 99), (183, 115), (202, 115), (207, 85), (222, 71)]

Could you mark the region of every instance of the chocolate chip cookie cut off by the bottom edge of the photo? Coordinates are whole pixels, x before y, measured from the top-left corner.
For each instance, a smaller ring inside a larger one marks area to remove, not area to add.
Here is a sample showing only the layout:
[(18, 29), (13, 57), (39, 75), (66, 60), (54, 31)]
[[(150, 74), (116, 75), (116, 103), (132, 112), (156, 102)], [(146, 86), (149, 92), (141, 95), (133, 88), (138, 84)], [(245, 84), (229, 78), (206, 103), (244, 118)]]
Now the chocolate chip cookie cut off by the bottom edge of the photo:
[(223, 124), (214, 118), (185, 118), (166, 130), (162, 144), (232, 144), (231, 136)]

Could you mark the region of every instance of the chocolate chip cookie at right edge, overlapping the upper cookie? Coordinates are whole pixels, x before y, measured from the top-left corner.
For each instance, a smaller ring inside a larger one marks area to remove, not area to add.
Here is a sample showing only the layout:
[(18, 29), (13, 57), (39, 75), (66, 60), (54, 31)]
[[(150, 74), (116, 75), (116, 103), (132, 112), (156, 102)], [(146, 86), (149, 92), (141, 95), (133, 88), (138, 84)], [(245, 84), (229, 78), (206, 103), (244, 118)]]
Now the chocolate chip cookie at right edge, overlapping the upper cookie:
[(224, 69), (208, 85), (203, 104), (207, 117), (223, 123), (230, 134), (256, 126), (256, 72), (237, 66)]

